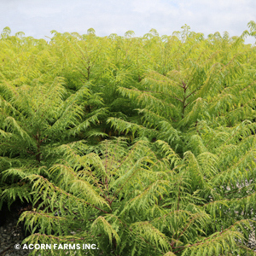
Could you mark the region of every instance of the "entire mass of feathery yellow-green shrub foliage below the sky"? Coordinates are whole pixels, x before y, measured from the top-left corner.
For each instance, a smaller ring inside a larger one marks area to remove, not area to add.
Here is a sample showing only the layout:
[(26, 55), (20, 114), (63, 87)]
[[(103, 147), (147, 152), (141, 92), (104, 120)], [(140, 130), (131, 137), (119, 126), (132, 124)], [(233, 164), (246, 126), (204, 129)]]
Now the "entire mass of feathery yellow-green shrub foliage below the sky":
[(253, 255), (248, 26), (233, 38), (183, 26), (141, 38), (53, 31), (49, 42), (6, 27), (0, 203), (33, 204), (20, 216), (25, 242), (95, 243), (91, 255)]

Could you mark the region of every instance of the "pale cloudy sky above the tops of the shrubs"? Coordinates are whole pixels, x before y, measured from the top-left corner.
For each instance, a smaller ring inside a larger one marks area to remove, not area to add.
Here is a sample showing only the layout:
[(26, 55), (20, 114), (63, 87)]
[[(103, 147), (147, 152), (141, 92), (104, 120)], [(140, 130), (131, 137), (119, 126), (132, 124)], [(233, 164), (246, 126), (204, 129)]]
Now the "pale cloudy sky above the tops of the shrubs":
[(12, 34), (34, 38), (50, 37), (51, 30), (84, 34), (90, 27), (97, 36), (123, 36), (128, 30), (143, 36), (151, 28), (171, 35), (184, 24), (205, 36), (217, 31), (240, 36), (256, 21), (256, 0), (0, 0), (0, 10), (0, 32), (9, 26)]

